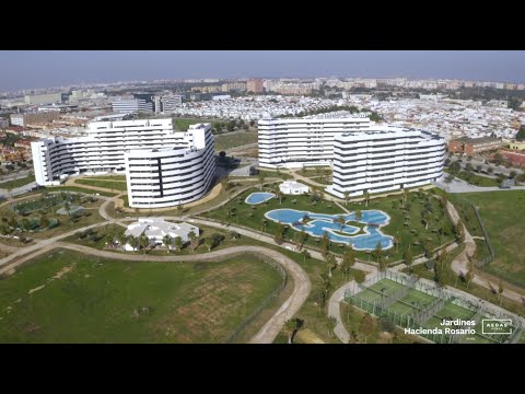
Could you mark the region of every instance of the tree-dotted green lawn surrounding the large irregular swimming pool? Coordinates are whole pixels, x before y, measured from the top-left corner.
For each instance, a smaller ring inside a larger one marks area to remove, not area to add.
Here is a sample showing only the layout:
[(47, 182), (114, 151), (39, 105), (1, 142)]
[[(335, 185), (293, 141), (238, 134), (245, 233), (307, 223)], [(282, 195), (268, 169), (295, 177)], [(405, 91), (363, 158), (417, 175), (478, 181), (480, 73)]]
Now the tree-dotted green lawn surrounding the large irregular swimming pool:
[[(250, 188), (221, 208), (205, 213), (203, 216), (220, 221), (228, 221), (232, 224), (241, 224), (255, 230), (266, 231), (269, 235), (275, 235), (278, 224), (264, 217), (265, 212), (272, 209), (291, 208), (313, 211), (316, 213), (345, 215), (338, 206), (330, 201), (320, 200), (314, 205), (310, 196), (284, 196), (282, 198), (282, 204), (279, 204), (279, 199), (277, 198), (270, 199), (261, 205), (250, 206), (245, 204), (245, 198), (254, 192), (259, 192), (259, 188)], [(430, 248), (435, 248), (439, 245), (453, 240), (451, 232), (452, 229), (447, 229), (443, 235), (438, 232), (438, 229), (441, 229), (442, 227), (452, 227), (452, 223), (440, 206), (438, 199), (430, 196), (431, 194), (429, 193), (421, 196), (419, 196), (419, 192), (410, 193), (407, 207), (409, 210), (407, 210), (406, 213), (400, 209), (400, 196), (373, 199), (370, 201), (369, 208), (364, 206), (364, 202), (361, 205), (359, 202), (351, 202), (348, 205), (347, 209), (350, 211), (357, 209), (381, 209), (390, 216), (390, 222), (383, 227), (382, 231), (387, 235), (396, 236), (396, 234), (398, 234), (400, 239), (397, 253), (394, 247), (388, 252), (390, 255), (388, 260), (395, 262), (402, 258), (402, 254), (409, 244), (411, 245), (412, 256), (416, 256), (423, 253), (422, 244), (424, 242), (429, 244)], [(428, 200), (429, 197), (430, 199)], [(293, 200), (296, 200), (296, 202), (293, 204)], [(425, 205), (434, 212), (428, 230), (424, 229), (421, 218), (421, 211), (424, 209)], [(229, 211), (230, 215), (228, 213)], [(405, 225), (405, 217), (407, 217), (407, 225)], [(354, 222), (350, 224), (354, 224)], [(362, 224), (360, 228), (361, 227)], [(296, 232), (294, 230), (288, 229), (284, 233), (284, 239), (293, 242), (295, 234)], [(413, 244), (415, 242), (417, 244)], [(308, 236), (306, 241), (306, 245), (310, 246), (318, 247), (319, 244), (318, 237)], [(340, 253), (342, 248), (343, 244), (334, 243), (331, 246), (331, 251), (335, 253)], [(365, 252), (357, 252), (357, 256), (362, 259), (369, 259), (369, 255)]]

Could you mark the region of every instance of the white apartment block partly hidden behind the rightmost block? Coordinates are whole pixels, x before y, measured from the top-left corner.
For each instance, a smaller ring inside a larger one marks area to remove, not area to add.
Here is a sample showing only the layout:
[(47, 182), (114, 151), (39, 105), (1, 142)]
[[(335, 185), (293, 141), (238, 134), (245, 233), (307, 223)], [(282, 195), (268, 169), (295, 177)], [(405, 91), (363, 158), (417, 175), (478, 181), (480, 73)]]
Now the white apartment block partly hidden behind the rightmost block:
[(371, 125), (366, 117), (261, 119), (258, 121), (259, 165), (271, 169), (330, 165), (334, 139), (349, 131), (365, 130)]

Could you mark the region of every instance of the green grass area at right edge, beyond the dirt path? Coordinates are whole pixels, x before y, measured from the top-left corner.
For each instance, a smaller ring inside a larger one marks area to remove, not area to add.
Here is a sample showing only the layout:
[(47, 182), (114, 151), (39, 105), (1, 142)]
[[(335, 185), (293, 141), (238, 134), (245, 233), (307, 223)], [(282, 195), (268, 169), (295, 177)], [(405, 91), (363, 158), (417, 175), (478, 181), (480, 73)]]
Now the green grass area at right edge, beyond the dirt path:
[(495, 259), (485, 269), (525, 287), (525, 190), (467, 193), (481, 215)]

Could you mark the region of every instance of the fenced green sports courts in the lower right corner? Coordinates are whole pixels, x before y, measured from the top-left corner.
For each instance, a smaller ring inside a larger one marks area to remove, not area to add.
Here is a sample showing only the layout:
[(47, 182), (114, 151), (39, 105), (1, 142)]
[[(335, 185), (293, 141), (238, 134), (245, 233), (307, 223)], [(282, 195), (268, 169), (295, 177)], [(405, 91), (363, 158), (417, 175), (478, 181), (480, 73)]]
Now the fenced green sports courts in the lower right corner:
[[(389, 317), (401, 328), (418, 329), (418, 335), (438, 344), (503, 344), (520, 340), (522, 324), (511, 314), (491, 310), (485, 302), (474, 303), (453, 294), (438, 285), (425, 283), (415, 277), (386, 270), (378, 273), (362, 285), (345, 292), (345, 300), (378, 317)], [(443, 320), (475, 321), (476, 325), (443, 326)], [(483, 318), (509, 318), (512, 334), (483, 334)], [(467, 329), (475, 333), (453, 332), (445, 328)], [(441, 333), (440, 333), (441, 329)]]

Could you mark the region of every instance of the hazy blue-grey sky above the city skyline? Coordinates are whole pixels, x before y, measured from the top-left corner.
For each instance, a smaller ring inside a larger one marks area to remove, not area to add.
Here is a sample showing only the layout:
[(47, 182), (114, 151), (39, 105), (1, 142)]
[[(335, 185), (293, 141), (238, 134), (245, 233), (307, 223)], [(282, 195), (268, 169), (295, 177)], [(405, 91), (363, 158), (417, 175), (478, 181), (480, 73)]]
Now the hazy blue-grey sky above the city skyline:
[(81, 81), (329, 76), (525, 82), (525, 51), (0, 51), (0, 91)]

